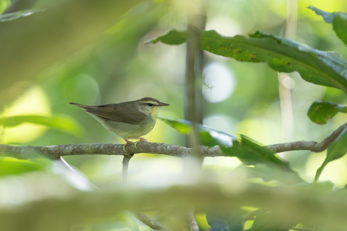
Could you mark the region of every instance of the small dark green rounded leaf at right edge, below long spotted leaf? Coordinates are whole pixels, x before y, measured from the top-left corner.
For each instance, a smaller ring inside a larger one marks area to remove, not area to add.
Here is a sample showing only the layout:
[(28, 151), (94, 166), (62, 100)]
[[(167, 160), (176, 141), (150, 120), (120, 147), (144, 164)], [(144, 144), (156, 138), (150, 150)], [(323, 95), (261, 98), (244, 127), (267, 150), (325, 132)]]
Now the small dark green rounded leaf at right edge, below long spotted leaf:
[(338, 112), (347, 113), (347, 106), (331, 102), (314, 101), (308, 108), (307, 115), (317, 124), (326, 124), (328, 119), (334, 117)]

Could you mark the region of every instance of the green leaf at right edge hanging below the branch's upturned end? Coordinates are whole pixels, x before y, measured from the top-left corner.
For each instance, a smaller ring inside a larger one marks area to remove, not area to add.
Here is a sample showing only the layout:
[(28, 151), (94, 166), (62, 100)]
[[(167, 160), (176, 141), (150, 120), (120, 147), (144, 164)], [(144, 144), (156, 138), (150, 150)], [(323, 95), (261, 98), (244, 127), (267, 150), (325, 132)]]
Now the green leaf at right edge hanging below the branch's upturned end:
[(340, 133), (336, 139), (329, 144), (327, 149), (327, 157), (325, 157), (325, 160), (323, 161), (321, 167), (319, 167), (316, 171), (316, 175), (314, 177), (314, 180), (317, 181), (322, 174), (323, 169), (327, 164), (333, 160), (339, 159), (343, 156), (345, 156), (347, 152), (347, 127), (345, 127), (344, 130)]

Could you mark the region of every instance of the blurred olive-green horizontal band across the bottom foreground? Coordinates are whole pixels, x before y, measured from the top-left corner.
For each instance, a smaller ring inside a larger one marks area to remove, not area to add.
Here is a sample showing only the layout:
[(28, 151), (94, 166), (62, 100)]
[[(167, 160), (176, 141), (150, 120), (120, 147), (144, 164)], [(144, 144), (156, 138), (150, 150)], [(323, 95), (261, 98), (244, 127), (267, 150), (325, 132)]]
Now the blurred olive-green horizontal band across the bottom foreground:
[[(60, 176), (33, 173), (0, 179), (0, 230), (69, 230), (71, 225), (100, 221), (102, 217), (109, 219), (124, 210), (182, 208), (186, 211), (191, 204), (197, 213), (211, 209), (211, 205), (222, 210), (232, 206), (266, 207), (267, 211), (277, 211), (277, 218), (282, 221), (290, 216), (291, 221), (303, 225), (344, 230), (347, 226), (346, 189), (333, 192), (331, 187), (317, 187), (321, 185), (269, 187), (250, 182), (200, 182), (81, 192), (64, 184)], [(170, 227), (169, 223), (166, 225)]]

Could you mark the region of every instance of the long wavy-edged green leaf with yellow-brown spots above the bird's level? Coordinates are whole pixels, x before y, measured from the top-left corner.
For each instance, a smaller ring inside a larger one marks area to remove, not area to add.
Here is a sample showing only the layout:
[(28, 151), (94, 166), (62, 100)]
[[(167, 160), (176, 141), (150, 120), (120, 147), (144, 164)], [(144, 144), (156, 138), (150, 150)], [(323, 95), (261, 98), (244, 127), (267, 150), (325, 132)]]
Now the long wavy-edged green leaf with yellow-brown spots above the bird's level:
[[(186, 32), (169, 32), (152, 39), (167, 44), (184, 40)], [(214, 30), (200, 31), (200, 49), (233, 57), (244, 62), (266, 62), (275, 71), (297, 71), (314, 84), (335, 87), (347, 92), (347, 62), (338, 53), (317, 50), (288, 38), (257, 31), (249, 37), (222, 36)]]

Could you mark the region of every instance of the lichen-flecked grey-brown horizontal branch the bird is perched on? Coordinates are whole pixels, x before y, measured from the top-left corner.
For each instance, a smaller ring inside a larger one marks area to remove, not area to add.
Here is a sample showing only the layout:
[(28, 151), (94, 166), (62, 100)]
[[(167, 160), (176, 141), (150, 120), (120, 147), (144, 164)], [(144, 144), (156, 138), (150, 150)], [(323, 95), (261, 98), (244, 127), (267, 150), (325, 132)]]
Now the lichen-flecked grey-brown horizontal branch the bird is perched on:
[[(347, 123), (338, 127), (323, 141), (296, 141), (289, 143), (271, 144), (265, 147), (273, 153), (295, 150), (309, 150), (311, 152), (322, 152), (327, 149), (328, 145), (335, 141), (340, 133), (347, 127)], [(134, 144), (129, 144), (126, 151), (122, 149), (123, 144), (61, 144), (52, 146), (14, 146), (0, 144), (0, 157), (14, 157), (17, 159), (33, 159), (33, 158), (49, 158), (60, 159), (61, 156), (73, 155), (122, 155), (129, 156), (136, 153), (153, 153), (164, 154), (176, 157), (188, 157), (191, 155), (192, 149), (175, 144), (164, 143), (147, 143), (140, 142), (135, 148)], [(222, 157), (227, 156), (216, 147), (200, 146), (199, 153), (203, 157)]]

